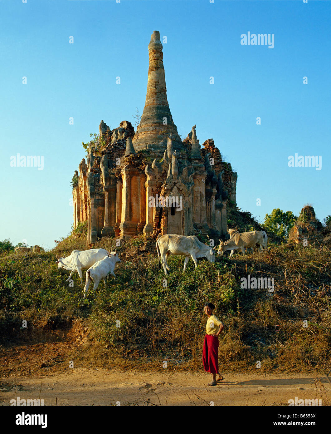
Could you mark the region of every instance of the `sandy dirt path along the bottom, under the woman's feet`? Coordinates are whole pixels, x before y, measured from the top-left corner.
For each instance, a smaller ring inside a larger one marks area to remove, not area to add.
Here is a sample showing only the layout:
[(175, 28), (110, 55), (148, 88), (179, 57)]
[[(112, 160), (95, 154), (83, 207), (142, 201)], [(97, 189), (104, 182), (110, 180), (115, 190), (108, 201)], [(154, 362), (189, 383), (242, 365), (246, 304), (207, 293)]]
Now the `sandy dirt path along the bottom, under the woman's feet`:
[[(321, 398), (307, 375), (223, 373), (220, 385), (208, 387), (210, 374), (140, 372), (79, 368), (44, 377), (0, 378), (0, 405), (10, 400), (40, 398), (44, 405), (288, 405), (289, 399)], [(322, 378), (331, 402), (331, 386)], [(16, 387), (15, 387), (16, 385)], [(199, 398), (198, 398), (199, 397)]]

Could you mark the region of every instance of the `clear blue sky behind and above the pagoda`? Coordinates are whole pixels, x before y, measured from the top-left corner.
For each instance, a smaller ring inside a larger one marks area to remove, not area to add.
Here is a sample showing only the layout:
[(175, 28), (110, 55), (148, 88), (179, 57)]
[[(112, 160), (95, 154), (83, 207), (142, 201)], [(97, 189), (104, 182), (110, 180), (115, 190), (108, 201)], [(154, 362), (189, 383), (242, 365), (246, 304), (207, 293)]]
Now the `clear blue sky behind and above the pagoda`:
[[(200, 144), (214, 139), (238, 172), (238, 206), (263, 220), (273, 208), (298, 215), (311, 203), (323, 220), (331, 214), (330, 19), (331, 2), (312, 0), (0, 0), (0, 240), (48, 249), (70, 232), (81, 142), (102, 119), (115, 128), (134, 123), (136, 107), (142, 113), (154, 30), (167, 36), (178, 132), (185, 138), (197, 124)], [(248, 31), (274, 34), (274, 48), (241, 45)], [(43, 156), (43, 170), (11, 167), (17, 153)], [(321, 155), (321, 170), (288, 167), (295, 153)]]

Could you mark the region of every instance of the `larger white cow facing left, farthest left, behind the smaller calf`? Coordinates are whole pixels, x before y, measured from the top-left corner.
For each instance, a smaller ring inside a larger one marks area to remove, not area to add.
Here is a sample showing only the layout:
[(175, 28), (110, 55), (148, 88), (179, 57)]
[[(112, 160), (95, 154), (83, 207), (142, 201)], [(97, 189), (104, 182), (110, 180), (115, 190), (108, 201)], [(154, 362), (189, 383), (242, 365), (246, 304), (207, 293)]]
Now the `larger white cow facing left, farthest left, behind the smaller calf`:
[(86, 270), (97, 261), (109, 256), (110, 253), (105, 249), (91, 249), (91, 250), (72, 250), (69, 256), (66, 258), (59, 258), (56, 261), (58, 268), (64, 268), (70, 271), (70, 276), (66, 280), (69, 282), (73, 273), (77, 271), (80, 277), (80, 284), (83, 284), (83, 274), (82, 270)]

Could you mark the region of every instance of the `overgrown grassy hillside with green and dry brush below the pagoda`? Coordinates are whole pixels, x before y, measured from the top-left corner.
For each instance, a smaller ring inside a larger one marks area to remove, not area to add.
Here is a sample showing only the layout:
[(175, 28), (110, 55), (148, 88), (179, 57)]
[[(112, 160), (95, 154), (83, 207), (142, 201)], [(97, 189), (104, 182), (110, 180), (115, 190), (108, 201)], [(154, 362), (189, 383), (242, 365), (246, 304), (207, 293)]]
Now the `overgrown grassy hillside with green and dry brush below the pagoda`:
[[(50, 252), (3, 253), (3, 348), (28, 342), (31, 333), (43, 339), (43, 331), (46, 336), (47, 330), (68, 331), (79, 323), (83, 345), (73, 344), (70, 357), (81, 364), (162, 368), (167, 361), (168, 368), (201, 369), (203, 304), (211, 301), (225, 325), (220, 335), (225, 371), (255, 370), (257, 361), (265, 372), (330, 368), (330, 250), (274, 244), (260, 254), (237, 253), (228, 260), (226, 253), (213, 264), (200, 260), (197, 270), (190, 260), (186, 274), (184, 257), (169, 256), (165, 282), (154, 245), (141, 236), (117, 248), (115, 239), (101, 239), (95, 248), (121, 251), (122, 262), (116, 264), (116, 279), (109, 277), (106, 289), (101, 282), (95, 294), (91, 285), (85, 300), (78, 274), (71, 287), (65, 282), (69, 272), (55, 264), (56, 255), (85, 250), (84, 235), (70, 236)], [(240, 279), (247, 275), (274, 277), (275, 291), (242, 289)]]

